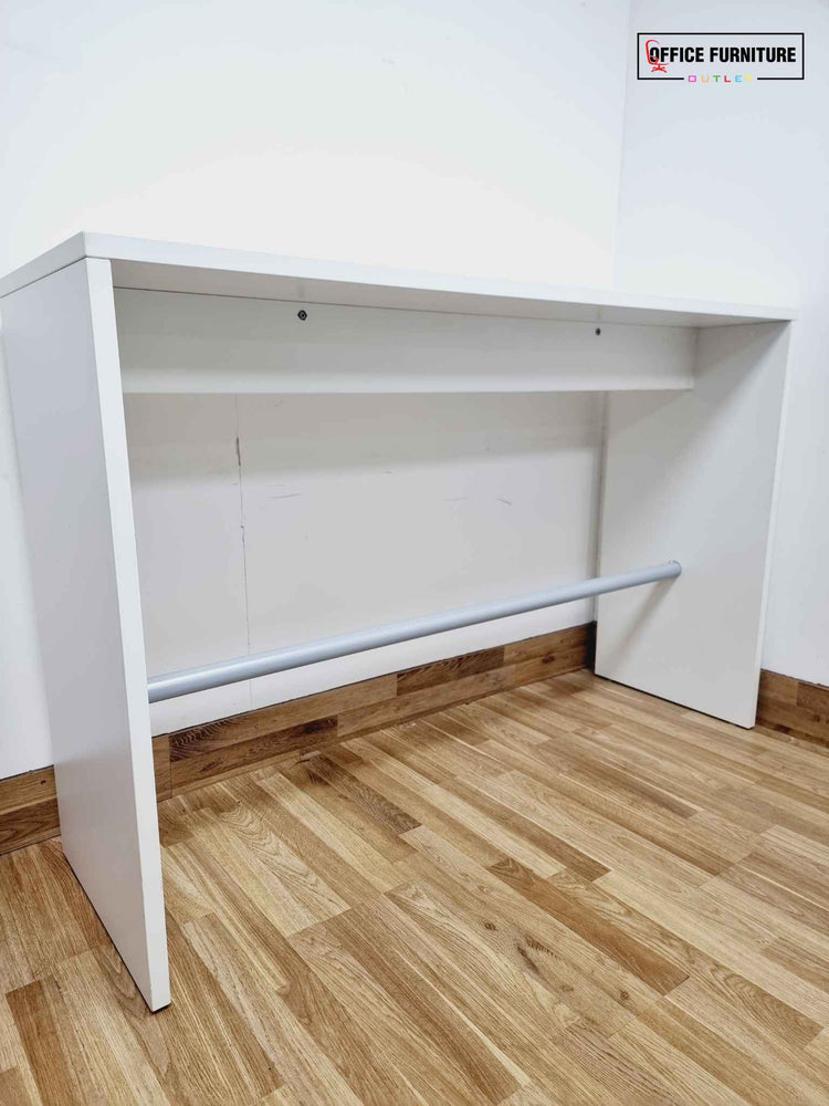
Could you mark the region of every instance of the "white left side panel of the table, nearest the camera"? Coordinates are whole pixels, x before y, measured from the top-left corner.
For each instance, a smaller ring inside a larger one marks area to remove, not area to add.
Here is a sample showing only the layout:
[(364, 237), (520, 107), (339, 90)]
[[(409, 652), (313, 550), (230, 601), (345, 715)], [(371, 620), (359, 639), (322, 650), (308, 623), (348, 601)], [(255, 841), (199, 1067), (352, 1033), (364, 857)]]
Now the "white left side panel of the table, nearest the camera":
[(63, 846), (155, 1010), (167, 945), (109, 263), (21, 289), (2, 317)]

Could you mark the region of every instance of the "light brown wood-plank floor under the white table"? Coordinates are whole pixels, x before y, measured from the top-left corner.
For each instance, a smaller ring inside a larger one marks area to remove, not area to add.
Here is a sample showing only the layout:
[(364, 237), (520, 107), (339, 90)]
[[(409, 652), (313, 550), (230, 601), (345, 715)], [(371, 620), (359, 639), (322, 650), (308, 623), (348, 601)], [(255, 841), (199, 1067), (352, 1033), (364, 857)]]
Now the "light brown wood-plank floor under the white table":
[(0, 859), (0, 1103), (829, 1102), (829, 752), (586, 672), (160, 807), (148, 1014)]

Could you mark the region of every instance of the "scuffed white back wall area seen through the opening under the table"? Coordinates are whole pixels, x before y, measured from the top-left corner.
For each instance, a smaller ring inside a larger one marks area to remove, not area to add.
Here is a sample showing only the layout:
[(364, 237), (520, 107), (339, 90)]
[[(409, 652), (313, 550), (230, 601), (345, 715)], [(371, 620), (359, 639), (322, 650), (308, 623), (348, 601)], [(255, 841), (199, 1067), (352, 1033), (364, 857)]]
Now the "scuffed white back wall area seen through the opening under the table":
[[(602, 397), (127, 396), (150, 675), (594, 573)], [(584, 601), (155, 703), (155, 732), (588, 622)]]

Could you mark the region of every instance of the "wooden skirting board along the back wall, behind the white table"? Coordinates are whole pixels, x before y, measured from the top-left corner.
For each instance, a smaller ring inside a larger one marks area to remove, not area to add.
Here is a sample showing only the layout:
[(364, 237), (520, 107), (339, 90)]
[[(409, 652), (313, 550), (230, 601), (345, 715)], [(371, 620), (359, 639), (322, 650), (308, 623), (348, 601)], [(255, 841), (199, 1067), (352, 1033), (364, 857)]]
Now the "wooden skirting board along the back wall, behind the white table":
[[(265, 761), (300, 760), (443, 707), (592, 668), (594, 630), (587, 623), (161, 734), (153, 740), (158, 801)], [(52, 768), (0, 780), (0, 854), (59, 833)]]

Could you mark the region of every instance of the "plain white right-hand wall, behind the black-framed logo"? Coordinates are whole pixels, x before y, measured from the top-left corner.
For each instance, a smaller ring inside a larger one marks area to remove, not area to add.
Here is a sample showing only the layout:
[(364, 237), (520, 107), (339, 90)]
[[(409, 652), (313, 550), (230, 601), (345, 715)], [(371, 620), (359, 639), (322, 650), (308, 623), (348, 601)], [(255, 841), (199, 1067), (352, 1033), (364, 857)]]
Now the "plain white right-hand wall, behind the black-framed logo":
[(632, 32), (769, 29), (805, 81), (638, 82), (631, 35), (616, 282), (801, 304), (763, 666), (829, 684), (829, 6), (632, 3)]

